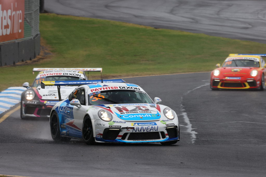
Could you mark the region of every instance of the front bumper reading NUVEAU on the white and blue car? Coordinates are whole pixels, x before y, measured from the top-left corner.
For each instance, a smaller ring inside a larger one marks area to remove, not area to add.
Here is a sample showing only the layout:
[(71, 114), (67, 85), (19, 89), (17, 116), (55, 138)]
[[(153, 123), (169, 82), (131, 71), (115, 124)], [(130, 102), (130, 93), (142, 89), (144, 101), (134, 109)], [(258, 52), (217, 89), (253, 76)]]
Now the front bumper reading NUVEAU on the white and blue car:
[[(154, 126), (132, 126), (131, 122), (114, 126), (95, 123), (95, 142), (108, 143), (147, 143), (179, 140), (178, 123), (161, 124), (154, 121)], [(105, 122), (106, 124), (106, 122)]]

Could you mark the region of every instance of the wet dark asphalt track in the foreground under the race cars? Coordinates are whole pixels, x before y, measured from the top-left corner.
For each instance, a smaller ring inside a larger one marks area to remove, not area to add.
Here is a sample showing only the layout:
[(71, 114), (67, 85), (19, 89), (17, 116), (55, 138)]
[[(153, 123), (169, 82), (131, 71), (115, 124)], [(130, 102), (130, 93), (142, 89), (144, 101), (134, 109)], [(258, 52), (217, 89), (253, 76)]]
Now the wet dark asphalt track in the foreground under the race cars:
[(209, 72), (125, 79), (178, 114), (175, 145), (55, 143), (48, 120), (0, 124), (0, 172), (22, 176), (264, 176), (265, 92), (213, 91)]

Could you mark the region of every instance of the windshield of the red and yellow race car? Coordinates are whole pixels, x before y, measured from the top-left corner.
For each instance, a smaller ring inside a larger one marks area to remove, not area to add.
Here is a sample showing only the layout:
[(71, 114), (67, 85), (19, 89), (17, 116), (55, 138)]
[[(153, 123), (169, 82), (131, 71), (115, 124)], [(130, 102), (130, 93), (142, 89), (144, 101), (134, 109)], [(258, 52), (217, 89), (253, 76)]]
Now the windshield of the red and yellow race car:
[(260, 63), (254, 60), (228, 60), (222, 67), (260, 67)]

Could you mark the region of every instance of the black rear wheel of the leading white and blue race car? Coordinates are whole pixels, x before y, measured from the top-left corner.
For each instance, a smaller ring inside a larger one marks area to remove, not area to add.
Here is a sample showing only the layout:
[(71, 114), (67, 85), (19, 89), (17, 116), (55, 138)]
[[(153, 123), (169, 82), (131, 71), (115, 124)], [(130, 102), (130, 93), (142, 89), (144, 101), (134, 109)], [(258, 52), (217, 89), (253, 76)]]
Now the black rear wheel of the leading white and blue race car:
[(68, 142), (71, 140), (71, 138), (69, 137), (60, 136), (59, 119), (58, 119), (56, 112), (53, 112), (51, 116), (50, 129), (51, 129), (51, 136), (54, 141)]

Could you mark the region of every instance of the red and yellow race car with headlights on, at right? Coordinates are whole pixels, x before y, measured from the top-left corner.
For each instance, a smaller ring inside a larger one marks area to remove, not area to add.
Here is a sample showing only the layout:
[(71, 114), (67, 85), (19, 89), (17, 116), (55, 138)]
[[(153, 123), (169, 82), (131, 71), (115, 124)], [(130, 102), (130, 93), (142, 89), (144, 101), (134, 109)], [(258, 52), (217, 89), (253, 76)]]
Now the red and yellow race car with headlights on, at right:
[(222, 66), (211, 72), (210, 88), (264, 90), (266, 54), (229, 54)]

